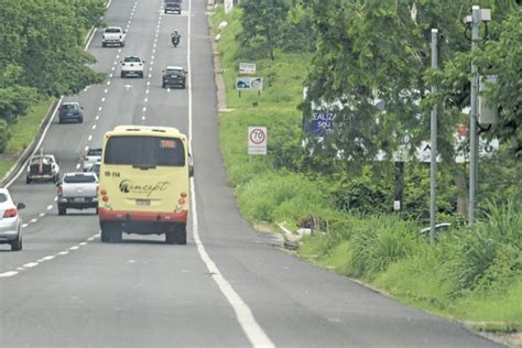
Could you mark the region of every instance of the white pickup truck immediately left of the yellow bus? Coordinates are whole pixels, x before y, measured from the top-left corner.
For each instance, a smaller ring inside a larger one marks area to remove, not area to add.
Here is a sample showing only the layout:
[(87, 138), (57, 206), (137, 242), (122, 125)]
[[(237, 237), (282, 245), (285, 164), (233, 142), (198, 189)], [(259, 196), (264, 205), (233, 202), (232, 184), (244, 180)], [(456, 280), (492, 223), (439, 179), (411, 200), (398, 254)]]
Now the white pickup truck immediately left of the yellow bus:
[(98, 213), (98, 176), (95, 173), (66, 173), (58, 186), (58, 215), (67, 208), (94, 208)]

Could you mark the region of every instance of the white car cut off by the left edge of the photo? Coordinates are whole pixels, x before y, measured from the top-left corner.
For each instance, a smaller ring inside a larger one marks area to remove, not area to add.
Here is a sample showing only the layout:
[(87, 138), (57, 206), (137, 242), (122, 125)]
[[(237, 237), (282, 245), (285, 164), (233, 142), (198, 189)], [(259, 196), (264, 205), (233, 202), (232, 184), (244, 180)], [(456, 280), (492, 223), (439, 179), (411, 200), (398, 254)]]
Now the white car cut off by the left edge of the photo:
[(23, 203), (14, 204), (7, 188), (0, 188), (0, 243), (11, 244), (12, 251), (22, 250), (22, 218), (18, 210), (23, 208)]

